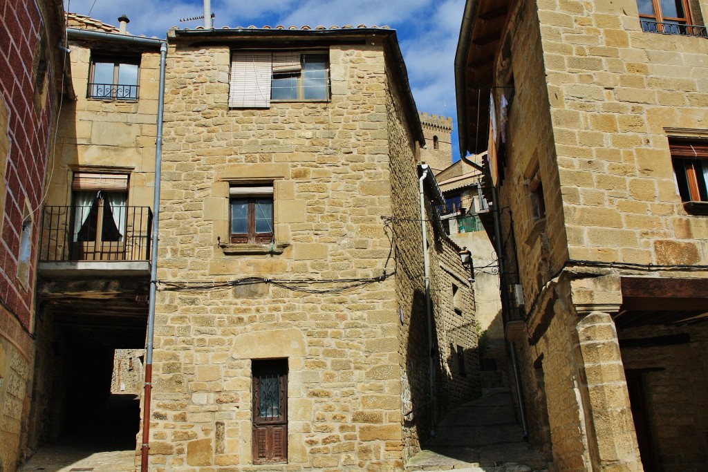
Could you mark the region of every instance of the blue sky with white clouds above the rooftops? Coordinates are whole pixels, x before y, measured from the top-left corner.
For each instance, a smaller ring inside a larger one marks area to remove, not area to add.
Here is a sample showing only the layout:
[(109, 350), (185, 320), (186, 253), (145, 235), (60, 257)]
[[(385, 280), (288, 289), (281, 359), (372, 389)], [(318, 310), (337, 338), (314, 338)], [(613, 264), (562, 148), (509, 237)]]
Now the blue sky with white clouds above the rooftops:
[[(418, 110), (455, 120), (453, 157), (458, 159), (455, 110), (455, 49), (465, 0), (212, 0), (215, 26), (388, 25), (396, 29)], [(203, 21), (201, 0), (64, 0), (74, 13), (118, 25), (130, 18), (128, 31), (164, 38), (169, 28), (196, 28)]]

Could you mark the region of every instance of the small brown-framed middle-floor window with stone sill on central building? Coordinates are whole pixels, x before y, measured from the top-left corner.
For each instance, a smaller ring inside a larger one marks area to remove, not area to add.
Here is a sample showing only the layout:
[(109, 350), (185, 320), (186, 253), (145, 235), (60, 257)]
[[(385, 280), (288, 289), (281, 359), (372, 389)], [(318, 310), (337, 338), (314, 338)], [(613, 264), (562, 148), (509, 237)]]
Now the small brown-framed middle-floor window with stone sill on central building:
[(229, 188), (232, 243), (272, 243), (273, 184)]

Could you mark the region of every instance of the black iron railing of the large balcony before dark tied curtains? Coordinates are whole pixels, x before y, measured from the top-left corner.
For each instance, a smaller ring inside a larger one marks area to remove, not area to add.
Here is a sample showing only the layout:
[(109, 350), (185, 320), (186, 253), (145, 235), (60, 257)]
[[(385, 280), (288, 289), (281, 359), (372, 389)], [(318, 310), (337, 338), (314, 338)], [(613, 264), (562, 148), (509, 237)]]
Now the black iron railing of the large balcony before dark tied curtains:
[(40, 261), (149, 260), (149, 207), (46, 206), (40, 228)]

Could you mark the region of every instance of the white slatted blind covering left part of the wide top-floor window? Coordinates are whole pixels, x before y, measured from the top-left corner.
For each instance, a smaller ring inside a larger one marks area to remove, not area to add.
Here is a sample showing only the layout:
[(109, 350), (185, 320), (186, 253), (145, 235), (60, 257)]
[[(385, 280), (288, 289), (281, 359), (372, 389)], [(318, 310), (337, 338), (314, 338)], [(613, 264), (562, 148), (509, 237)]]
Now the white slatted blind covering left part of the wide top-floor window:
[(229, 107), (270, 107), (272, 57), (270, 52), (234, 52), (229, 84)]

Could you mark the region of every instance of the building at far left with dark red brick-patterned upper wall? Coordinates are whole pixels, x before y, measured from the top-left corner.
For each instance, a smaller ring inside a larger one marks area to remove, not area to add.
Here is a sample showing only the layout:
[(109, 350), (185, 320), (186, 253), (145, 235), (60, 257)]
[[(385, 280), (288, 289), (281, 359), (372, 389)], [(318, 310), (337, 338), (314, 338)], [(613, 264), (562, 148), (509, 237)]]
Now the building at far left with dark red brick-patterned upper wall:
[(64, 83), (58, 1), (0, 1), (0, 471), (27, 442), (35, 269), (46, 170)]

